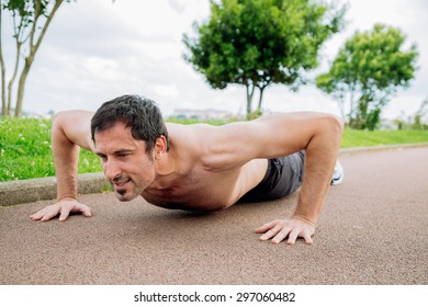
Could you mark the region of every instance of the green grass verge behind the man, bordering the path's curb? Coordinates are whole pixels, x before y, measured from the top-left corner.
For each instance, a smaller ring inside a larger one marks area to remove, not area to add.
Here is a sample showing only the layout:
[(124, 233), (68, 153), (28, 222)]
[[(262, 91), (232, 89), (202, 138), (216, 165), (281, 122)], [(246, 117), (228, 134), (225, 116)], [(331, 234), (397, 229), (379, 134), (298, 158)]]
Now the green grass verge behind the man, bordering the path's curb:
[[(171, 122), (192, 124), (195, 121)], [(215, 121), (210, 124), (221, 125)], [(0, 120), (0, 181), (55, 175), (50, 150), (50, 120)], [(342, 148), (428, 143), (428, 130), (351, 130), (343, 132)], [(80, 151), (79, 173), (101, 171), (99, 158)]]

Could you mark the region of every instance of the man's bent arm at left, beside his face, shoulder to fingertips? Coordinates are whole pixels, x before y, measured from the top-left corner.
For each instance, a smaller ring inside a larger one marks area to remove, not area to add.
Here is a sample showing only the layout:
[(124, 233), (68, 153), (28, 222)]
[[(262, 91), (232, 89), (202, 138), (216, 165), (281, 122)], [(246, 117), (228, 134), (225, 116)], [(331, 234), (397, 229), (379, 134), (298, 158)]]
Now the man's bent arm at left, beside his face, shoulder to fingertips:
[(91, 216), (88, 206), (77, 201), (79, 148), (93, 150), (90, 138), (90, 121), (93, 113), (86, 111), (61, 112), (55, 116), (52, 127), (52, 150), (57, 178), (57, 203), (33, 214), (32, 219), (49, 220), (60, 214), (66, 220), (70, 212)]

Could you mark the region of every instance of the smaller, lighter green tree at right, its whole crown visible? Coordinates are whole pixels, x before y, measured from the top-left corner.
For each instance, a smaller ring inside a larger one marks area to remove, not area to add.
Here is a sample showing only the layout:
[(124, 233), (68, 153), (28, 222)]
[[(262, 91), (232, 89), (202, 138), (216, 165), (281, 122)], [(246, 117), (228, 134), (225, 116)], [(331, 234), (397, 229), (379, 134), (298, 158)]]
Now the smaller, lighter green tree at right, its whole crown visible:
[(413, 44), (404, 50), (405, 39), (398, 29), (382, 24), (372, 31), (357, 31), (340, 48), (329, 71), (316, 78), (316, 86), (339, 102), (343, 118), (349, 100), (352, 128), (373, 130), (397, 89), (407, 88), (415, 78), (417, 47)]

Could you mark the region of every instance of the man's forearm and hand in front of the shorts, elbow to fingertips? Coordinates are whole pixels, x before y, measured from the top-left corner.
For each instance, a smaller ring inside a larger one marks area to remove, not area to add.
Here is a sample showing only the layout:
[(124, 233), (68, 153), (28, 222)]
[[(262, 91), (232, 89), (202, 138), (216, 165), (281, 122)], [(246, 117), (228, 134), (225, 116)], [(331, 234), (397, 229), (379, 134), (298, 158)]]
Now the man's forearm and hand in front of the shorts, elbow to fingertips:
[(296, 238), (302, 237), (306, 243), (313, 243), (315, 225), (330, 186), (342, 124), (330, 117), (312, 125), (305, 147), (305, 175), (295, 212), (290, 219), (277, 219), (257, 228), (256, 232), (263, 234), (261, 240), (272, 239), (272, 242), (279, 243), (289, 237), (288, 243), (294, 245)]

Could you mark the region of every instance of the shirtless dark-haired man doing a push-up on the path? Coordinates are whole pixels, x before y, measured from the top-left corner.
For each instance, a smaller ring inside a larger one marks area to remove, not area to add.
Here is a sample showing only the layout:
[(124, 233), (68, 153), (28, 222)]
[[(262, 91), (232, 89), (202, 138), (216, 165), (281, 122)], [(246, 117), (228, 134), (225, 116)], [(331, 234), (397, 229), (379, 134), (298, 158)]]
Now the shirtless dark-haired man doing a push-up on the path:
[[(49, 220), (69, 213), (91, 216), (77, 201), (79, 147), (94, 151), (120, 201), (147, 202), (191, 211), (217, 211), (245, 202), (274, 200), (301, 185), (290, 218), (255, 231), (279, 243), (297, 237), (312, 243), (341, 139), (341, 122), (322, 113), (272, 114), (223, 126), (165, 124), (148, 99), (124, 95), (105, 102), (95, 114), (59, 113), (52, 148), (57, 203), (31, 217)], [(303, 184), (302, 184), (303, 181)]]

